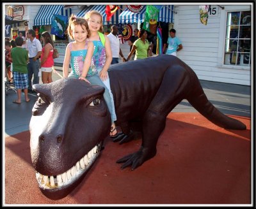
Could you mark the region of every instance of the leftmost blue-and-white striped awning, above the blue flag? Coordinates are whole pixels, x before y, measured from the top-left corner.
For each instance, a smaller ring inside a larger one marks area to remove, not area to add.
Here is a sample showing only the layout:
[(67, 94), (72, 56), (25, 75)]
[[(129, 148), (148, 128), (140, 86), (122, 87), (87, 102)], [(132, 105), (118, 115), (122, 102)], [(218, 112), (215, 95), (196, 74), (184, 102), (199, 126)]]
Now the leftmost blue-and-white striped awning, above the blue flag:
[(71, 8), (63, 8), (63, 5), (42, 5), (35, 17), (34, 25), (51, 25), (53, 15), (69, 17), (71, 12)]

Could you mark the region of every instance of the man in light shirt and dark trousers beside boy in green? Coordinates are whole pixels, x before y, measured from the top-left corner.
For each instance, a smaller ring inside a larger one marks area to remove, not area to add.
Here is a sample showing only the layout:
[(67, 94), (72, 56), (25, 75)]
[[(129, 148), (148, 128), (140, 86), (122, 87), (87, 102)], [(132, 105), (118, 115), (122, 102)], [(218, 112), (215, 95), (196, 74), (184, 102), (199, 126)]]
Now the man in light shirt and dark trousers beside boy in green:
[(28, 92), (33, 93), (31, 80), (33, 78), (33, 84), (39, 83), (39, 66), (40, 55), (42, 54), (42, 44), (35, 38), (36, 32), (32, 29), (28, 30), (27, 37), (27, 50), (28, 50)]

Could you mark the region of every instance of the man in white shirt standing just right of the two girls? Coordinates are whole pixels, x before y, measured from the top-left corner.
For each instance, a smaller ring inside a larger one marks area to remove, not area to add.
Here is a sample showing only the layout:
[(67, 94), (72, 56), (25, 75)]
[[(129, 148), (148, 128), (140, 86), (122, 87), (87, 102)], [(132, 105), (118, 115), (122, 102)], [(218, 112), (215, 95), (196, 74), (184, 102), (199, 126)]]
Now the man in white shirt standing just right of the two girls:
[(112, 51), (112, 62), (111, 64), (118, 63), (119, 55), (122, 57), (122, 61), (126, 61), (122, 50), (120, 48), (120, 41), (117, 36), (118, 27), (116, 25), (111, 26), (111, 32), (108, 34), (108, 38), (110, 41), (111, 51)]

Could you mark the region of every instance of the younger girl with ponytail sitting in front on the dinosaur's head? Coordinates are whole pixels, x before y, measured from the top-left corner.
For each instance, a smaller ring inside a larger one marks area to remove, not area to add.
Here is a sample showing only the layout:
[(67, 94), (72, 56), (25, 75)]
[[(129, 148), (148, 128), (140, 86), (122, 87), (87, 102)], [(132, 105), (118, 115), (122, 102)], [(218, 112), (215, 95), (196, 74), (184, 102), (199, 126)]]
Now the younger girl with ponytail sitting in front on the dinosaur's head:
[[(94, 47), (92, 41), (87, 40), (87, 38), (90, 37), (90, 30), (86, 20), (71, 15), (67, 32), (68, 36), (75, 41), (67, 45), (63, 63), (63, 77), (78, 78), (92, 85), (104, 87), (105, 91), (103, 96), (111, 115), (111, 122), (115, 125), (109, 91), (97, 75), (97, 69), (92, 59)], [(68, 75), (69, 64), (71, 65), (72, 71)]]

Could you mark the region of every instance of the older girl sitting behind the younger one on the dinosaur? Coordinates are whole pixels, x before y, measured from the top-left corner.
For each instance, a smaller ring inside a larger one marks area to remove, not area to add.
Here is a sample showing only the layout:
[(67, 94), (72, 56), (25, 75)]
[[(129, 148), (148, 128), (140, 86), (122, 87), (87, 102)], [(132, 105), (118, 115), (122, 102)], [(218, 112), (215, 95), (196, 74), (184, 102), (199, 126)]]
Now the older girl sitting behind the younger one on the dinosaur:
[[(95, 46), (95, 52), (93, 54), (93, 61), (95, 62), (98, 75), (104, 85), (108, 88), (109, 95), (111, 97), (111, 104), (113, 106), (113, 112), (111, 113), (113, 115), (113, 122), (111, 126), (111, 137), (118, 136), (116, 127), (115, 127), (115, 120), (116, 120), (116, 113), (115, 113), (115, 104), (114, 104), (114, 98), (113, 94), (111, 92), (110, 83), (109, 83), (109, 76), (108, 76), (108, 68), (112, 61), (112, 52), (111, 52), (111, 46), (108, 36), (102, 34), (103, 32), (103, 26), (102, 26), (102, 15), (95, 10), (88, 11), (84, 18), (88, 22), (88, 26), (90, 29), (90, 41), (93, 42), (93, 45)], [(101, 34), (100, 34), (101, 33)], [(100, 38), (102, 36), (102, 38)], [(103, 40), (101, 40), (103, 39)], [(104, 45), (102, 44), (104, 42)]]

